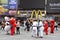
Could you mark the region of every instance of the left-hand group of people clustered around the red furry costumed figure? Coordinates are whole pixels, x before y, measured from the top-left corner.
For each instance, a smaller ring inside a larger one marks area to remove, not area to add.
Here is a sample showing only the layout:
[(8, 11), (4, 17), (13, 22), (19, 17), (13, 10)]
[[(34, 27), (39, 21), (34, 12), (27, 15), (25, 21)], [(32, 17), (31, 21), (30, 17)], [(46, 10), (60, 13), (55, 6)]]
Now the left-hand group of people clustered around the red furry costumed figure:
[(15, 30), (16, 30), (16, 34), (20, 34), (20, 20), (16, 20), (15, 17), (8, 17), (5, 16), (2, 20), (2, 30), (6, 31), (7, 34), (10, 35), (14, 35), (15, 34)]

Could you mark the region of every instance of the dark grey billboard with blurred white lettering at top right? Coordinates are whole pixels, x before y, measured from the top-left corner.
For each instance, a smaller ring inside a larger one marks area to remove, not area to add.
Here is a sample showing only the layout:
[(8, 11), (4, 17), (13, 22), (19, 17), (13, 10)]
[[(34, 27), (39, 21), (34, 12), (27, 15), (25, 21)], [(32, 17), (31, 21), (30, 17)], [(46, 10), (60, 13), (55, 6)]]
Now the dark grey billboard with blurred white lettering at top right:
[(47, 0), (48, 13), (60, 13), (60, 0)]

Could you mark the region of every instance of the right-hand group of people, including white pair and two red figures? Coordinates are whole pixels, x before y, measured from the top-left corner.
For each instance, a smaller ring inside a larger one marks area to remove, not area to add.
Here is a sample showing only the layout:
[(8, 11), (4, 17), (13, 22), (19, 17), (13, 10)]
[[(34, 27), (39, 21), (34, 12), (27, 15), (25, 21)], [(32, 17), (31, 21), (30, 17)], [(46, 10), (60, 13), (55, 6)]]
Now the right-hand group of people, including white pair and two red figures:
[[(48, 35), (48, 28), (50, 27), (50, 33), (54, 33), (54, 28), (58, 31), (58, 24), (55, 22), (54, 19), (51, 20), (27, 20), (24, 22), (25, 29), (27, 31), (32, 28), (32, 37), (41, 37), (43, 38), (44, 33)], [(24, 30), (25, 30), (24, 29)]]

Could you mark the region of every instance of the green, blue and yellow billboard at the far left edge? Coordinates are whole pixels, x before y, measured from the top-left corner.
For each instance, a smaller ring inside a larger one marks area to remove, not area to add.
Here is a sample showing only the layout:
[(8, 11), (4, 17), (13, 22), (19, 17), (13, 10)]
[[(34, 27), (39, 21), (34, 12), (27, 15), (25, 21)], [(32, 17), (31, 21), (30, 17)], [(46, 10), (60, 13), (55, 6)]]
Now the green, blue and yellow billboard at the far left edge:
[(0, 15), (8, 15), (8, 0), (1, 0)]

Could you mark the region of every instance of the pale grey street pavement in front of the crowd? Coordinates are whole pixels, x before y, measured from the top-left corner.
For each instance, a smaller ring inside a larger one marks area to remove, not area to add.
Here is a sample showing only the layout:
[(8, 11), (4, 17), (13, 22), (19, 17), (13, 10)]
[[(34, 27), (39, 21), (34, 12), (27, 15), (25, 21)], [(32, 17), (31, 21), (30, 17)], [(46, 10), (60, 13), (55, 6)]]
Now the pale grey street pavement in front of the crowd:
[[(58, 28), (59, 29), (59, 28)], [(45, 35), (43, 38), (35, 38), (31, 36), (31, 31), (27, 32), (24, 31), (23, 28), (21, 28), (21, 34), (20, 35), (6, 35), (6, 32), (3, 30), (0, 30), (0, 40), (60, 40), (60, 29), (58, 31), (55, 30), (54, 34)]]

